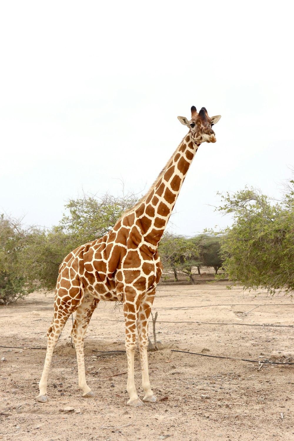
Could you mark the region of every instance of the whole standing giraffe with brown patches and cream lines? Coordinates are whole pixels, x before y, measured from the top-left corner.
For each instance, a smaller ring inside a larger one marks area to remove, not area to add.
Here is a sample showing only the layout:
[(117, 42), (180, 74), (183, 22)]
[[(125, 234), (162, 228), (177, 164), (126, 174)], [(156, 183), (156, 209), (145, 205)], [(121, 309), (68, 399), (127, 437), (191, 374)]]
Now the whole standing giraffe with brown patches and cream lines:
[[(76, 311), (71, 336), (78, 362), (78, 385), (83, 397), (93, 397), (85, 376), (84, 337), (90, 318), (100, 300), (122, 301), (127, 352), (128, 405), (154, 403), (148, 372), (148, 319), (156, 285), (163, 267), (158, 244), (171, 216), (186, 173), (202, 142), (216, 142), (212, 126), (220, 115), (209, 117), (205, 107), (199, 113), (191, 107), (191, 119), (178, 116), (189, 128), (152, 187), (115, 226), (100, 239), (86, 243), (64, 258), (59, 267), (54, 299), (54, 315), (47, 336), (45, 365), (36, 400), (48, 401), (47, 379), (52, 353), (69, 316)], [(136, 328), (141, 358), (143, 401), (134, 384)]]

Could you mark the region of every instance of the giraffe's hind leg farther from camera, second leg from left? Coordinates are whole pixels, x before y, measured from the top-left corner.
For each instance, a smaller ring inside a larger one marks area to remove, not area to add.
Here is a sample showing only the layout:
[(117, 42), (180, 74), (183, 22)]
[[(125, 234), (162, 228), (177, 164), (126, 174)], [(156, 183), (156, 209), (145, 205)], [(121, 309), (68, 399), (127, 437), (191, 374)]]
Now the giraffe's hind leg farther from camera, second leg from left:
[(71, 336), (74, 342), (74, 348), (77, 354), (78, 362), (78, 386), (82, 389), (83, 397), (90, 398), (95, 396), (91, 388), (87, 385), (85, 374), (85, 358), (84, 358), (84, 338), (89, 325), (90, 318), (95, 310), (98, 299), (86, 294), (82, 304), (78, 307), (74, 325), (72, 327)]

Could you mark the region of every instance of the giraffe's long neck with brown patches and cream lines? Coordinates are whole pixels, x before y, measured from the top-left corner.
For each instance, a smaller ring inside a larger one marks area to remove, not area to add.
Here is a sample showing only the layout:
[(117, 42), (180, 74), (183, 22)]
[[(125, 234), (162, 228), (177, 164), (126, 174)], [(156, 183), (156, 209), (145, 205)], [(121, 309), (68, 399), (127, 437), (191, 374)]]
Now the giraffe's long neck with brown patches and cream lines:
[(199, 145), (196, 145), (190, 132), (183, 138), (167, 166), (160, 174), (149, 193), (134, 210), (140, 224), (145, 242), (156, 249), (164, 234), (167, 222), (175, 206), (182, 183)]

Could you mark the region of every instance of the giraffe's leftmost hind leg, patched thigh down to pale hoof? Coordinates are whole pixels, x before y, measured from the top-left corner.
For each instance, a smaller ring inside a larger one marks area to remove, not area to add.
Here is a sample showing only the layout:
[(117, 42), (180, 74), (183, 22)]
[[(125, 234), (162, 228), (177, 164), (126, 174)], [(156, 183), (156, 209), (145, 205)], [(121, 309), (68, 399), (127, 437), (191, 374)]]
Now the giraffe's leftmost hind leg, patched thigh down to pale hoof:
[[(59, 278), (60, 279), (60, 278)], [(70, 315), (78, 308), (78, 305), (82, 302), (83, 290), (80, 288), (78, 295), (75, 295), (75, 298), (71, 297), (71, 290), (69, 290), (67, 296), (62, 296), (62, 280), (57, 282), (58, 288), (56, 289), (55, 301), (54, 301), (54, 315), (52, 319), (52, 323), (48, 328), (47, 336), (47, 349), (46, 349), (46, 357), (44, 363), (44, 369), (41, 375), (41, 380), (39, 382), (39, 395), (36, 397), (36, 400), (40, 403), (46, 403), (48, 401), (47, 395), (47, 381), (48, 381), (48, 373), (51, 364), (52, 354), (56, 343), (60, 337), (61, 331), (63, 330), (64, 325), (67, 322), (67, 319)]]

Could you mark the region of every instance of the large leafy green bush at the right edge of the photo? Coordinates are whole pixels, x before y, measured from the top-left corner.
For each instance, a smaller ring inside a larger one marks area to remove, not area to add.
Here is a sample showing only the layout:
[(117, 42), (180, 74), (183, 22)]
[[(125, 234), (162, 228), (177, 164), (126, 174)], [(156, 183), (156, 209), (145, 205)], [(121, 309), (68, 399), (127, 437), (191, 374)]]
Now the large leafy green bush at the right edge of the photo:
[(233, 213), (234, 224), (223, 231), (223, 266), (229, 279), (245, 288), (294, 290), (293, 181), (281, 202), (253, 188), (222, 195), (219, 210)]

